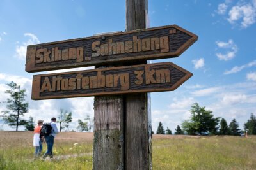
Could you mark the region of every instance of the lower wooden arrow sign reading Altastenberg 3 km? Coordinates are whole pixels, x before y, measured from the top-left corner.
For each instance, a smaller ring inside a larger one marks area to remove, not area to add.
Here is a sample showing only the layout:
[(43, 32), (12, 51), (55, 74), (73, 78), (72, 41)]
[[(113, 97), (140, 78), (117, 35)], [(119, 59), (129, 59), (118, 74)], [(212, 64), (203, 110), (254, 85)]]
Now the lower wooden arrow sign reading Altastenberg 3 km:
[(32, 99), (172, 91), (191, 76), (172, 62), (42, 74), (33, 76)]

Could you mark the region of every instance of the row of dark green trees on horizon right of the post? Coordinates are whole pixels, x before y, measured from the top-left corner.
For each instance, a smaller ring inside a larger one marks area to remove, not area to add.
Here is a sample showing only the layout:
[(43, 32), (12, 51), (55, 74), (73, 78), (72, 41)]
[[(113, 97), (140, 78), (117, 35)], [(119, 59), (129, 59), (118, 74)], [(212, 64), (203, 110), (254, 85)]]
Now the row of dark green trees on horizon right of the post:
[[(184, 120), (180, 128), (177, 125), (174, 134), (189, 134), (189, 135), (244, 135), (256, 134), (256, 117), (251, 113), (250, 119), (244, 124), (244, 130), (239, 129), (239, 124), (234, 118), (230, 124), (227, 124), (225, 118), (216, 117), (212, 114), (211, 110), (206, 110), (205, 106), (200, 107), (198, 103), (191, 106), (191, 116), (188, 120)], [(154, 134), (154, 132), (152, 132)], [(163, 124), (159, 122), (156, 134), (172, 134), (170, 129), (164, 130)]]

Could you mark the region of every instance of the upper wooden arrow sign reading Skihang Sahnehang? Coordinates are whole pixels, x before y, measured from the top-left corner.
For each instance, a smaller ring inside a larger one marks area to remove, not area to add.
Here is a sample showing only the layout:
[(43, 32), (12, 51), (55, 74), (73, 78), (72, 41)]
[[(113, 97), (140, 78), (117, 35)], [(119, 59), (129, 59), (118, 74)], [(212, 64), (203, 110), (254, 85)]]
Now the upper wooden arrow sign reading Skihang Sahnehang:
[(177, 25), (29, 45), (26, 71), (178, 57), (198, 39)]

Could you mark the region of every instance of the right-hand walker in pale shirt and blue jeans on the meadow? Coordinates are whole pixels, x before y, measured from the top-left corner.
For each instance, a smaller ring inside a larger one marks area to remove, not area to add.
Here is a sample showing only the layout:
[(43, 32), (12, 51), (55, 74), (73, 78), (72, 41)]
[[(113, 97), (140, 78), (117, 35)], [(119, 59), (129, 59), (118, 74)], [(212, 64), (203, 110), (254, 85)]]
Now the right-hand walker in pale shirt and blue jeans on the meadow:
[(52, 154), (52, 148), (53, 148), (53, 144), (54, 144), (54, 138), (56, 136), (56, 134), (58, 133), (58, 128), (56, 125), (56, 118), (51, 118), (51, 132), (49, 134), (45, 134), (44, 138), (47, 144), (47, 150), (44, 153), (43, 159), (45, 159), (48, 155), (50, 156), (50, 158), (52, 159), (53, 154)]

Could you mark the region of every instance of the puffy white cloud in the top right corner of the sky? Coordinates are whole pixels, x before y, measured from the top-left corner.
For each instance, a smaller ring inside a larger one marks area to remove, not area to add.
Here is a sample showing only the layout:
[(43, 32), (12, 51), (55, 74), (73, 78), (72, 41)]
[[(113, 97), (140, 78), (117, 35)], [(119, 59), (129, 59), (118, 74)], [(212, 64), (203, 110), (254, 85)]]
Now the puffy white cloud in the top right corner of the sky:
[(255, 23), (256, 19), (256, 5), (254, 3), (237, 4), (233, 6), (228, 13), (228, 22), (236, 24), (241, 22), (241, 27), (246, 28)]

